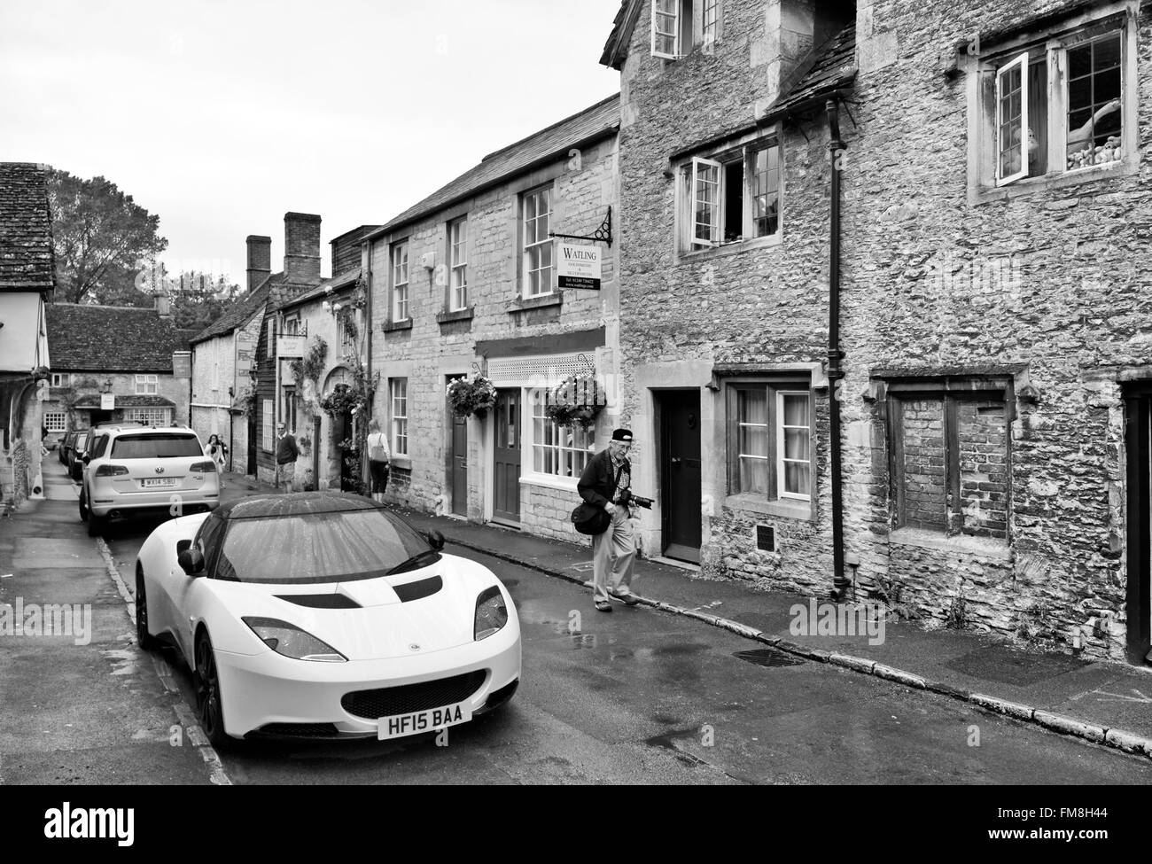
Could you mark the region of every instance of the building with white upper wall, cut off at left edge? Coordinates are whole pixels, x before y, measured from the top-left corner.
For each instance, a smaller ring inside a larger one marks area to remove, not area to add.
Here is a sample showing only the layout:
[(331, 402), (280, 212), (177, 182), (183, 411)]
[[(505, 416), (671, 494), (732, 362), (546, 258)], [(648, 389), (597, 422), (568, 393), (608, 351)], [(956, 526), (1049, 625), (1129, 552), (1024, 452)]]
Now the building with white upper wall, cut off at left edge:
[(0, 507), (37, 486), (55, 283), (47, 166), (0, 162)]

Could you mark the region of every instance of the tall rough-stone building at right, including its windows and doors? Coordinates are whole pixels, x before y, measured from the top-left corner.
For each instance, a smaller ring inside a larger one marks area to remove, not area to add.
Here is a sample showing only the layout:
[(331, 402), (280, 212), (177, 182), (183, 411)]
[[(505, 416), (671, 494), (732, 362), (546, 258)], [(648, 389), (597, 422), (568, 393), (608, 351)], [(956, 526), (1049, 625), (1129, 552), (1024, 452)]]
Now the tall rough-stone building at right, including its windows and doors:
[(1150, 12), (624, 0), (651, 548), (1144, 658)]

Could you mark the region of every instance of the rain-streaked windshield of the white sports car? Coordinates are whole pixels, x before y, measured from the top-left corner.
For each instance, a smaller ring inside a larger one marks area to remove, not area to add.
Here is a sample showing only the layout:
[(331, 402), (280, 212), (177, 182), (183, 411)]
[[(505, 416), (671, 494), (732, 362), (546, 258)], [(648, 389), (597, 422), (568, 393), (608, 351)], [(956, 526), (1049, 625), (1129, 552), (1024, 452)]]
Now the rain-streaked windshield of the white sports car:
[(350, 582), (439, 558), (384, 510), (306, 513), (232, 521), (215, 575), (236, 582)]

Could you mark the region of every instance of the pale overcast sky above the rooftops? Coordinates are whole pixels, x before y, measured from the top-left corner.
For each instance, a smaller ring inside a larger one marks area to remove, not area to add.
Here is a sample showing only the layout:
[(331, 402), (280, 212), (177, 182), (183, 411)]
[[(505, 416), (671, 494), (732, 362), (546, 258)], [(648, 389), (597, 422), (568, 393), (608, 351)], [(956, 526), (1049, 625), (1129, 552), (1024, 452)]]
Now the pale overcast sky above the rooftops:
[(619, 0), (0, 2), (0, 161), (104, 175), (169, 271), (244, 279), (286, 211), (327, 242), (616, 92)]

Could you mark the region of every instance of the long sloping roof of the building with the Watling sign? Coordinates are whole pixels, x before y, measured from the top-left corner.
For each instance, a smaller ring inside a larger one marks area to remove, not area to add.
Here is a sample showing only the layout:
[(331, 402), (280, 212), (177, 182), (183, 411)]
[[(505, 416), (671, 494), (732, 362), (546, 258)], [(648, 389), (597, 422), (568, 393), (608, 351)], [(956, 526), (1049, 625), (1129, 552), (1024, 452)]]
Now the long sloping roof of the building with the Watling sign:
[(615, 93), (578, 114), (564, 118), (559, 123), (553, 123), (526, 138), (488, 153), (479, 165), (391, 219), (381, 228), (365, 235), (365, 240), (394, 232), (538, 165), (567, 157), (571, 147), (608, 137), (619, 128), (620, 93)]

